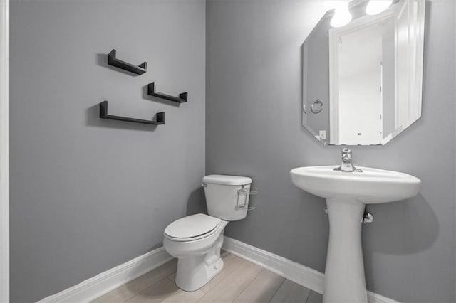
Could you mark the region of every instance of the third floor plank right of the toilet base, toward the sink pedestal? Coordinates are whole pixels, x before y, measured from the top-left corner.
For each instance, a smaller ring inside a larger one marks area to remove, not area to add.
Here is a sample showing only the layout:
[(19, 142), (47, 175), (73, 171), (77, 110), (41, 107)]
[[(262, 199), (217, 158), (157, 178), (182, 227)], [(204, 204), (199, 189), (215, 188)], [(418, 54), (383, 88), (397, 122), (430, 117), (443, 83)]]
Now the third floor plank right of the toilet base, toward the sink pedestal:
[(234, 302), (269, 302), (284, 280), (274, 272), (262, 270)]

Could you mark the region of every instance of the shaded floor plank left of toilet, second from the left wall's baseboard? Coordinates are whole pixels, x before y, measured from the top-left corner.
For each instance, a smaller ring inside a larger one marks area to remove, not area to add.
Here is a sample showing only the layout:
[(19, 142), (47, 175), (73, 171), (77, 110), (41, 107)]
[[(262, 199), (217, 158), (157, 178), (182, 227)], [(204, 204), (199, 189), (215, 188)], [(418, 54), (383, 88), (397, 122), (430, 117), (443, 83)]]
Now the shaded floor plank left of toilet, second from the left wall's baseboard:
[(175, 285), (170, 279), (165, 277), (160, 282), (155, 283), (151, 287), (144, 289), (135, 297), (128, 299), (125, 302), (128, 303), (145, 303), (145, 302), (162, 302), (167, 297), (172, 296), (179, 290), (179, 287)]

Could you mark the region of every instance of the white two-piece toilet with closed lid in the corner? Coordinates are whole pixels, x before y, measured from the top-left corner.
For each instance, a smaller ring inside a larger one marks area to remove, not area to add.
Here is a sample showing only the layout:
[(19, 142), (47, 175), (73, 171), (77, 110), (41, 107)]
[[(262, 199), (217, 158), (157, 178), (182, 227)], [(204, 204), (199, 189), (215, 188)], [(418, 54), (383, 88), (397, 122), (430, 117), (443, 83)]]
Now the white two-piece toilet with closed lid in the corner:
[(209, 175), (202, 179), (207, 213), (175, 220), (165, 228), (165, 250), (177, 258), (176, 285), (187, 292), (199, 289), (223, 268), (220, 248), (229, 221), (242, 220), (249, 210), (252, 179)]

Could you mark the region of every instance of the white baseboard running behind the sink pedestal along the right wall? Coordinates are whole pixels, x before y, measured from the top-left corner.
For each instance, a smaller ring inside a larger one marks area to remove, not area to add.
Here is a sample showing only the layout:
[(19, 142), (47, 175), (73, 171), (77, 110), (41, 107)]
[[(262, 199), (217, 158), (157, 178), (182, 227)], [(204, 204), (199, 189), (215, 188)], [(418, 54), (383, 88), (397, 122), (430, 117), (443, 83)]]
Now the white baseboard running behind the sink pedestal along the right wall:
[[(222, 249), (314, 290), (314, 292), (323, 294), (325, 275), (321, 272), (226, 236), (224, 237)], [(368, 292), (368, 302), (399, 303), (373, 292)]]

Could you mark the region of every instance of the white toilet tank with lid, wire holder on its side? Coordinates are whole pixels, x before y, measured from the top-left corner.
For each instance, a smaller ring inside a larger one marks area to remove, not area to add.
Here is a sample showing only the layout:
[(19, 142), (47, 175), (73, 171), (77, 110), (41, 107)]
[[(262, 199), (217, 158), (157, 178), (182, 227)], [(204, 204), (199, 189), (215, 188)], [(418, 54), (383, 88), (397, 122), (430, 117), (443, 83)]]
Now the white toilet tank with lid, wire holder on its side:
[(202, 185), (209, 216), (227, 221), (242, 220), (247, 216), (252, 179), (245, 176), (204, 176)]

